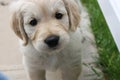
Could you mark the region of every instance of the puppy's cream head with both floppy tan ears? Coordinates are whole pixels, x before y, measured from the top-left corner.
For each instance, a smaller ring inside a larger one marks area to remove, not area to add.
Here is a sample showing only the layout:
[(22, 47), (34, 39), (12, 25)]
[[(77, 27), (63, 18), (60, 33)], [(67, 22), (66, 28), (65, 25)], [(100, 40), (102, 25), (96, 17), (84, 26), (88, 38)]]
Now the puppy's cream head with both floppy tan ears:
[(79, 10), (74, 0), (19, 0), (12, 4), (11, 27), (38, 51), (59, 51), (69, 43), (75, 31)]

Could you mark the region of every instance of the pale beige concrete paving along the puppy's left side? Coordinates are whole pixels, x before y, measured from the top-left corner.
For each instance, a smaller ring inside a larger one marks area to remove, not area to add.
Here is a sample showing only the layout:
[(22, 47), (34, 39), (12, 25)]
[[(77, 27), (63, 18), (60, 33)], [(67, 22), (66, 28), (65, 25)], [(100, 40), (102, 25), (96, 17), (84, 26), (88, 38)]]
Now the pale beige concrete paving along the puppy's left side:
[(9, 26), (8, 3), (11, 1), (0, 0), (0, 71), (11, 80), (27, 80), (17, 38)]

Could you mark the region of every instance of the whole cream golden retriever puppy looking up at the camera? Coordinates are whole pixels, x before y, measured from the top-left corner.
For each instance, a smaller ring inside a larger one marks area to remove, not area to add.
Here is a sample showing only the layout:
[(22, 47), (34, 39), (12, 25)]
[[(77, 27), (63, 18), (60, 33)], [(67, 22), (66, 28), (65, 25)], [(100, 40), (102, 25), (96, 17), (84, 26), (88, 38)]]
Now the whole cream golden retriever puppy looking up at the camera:
[(46, 80), (48, 71), (59, 73), (55, 80), (98, 79), (91, 68), (98, 57), (94, 36), (79, 0), (19, 0), (11, 12), (29, 80)]

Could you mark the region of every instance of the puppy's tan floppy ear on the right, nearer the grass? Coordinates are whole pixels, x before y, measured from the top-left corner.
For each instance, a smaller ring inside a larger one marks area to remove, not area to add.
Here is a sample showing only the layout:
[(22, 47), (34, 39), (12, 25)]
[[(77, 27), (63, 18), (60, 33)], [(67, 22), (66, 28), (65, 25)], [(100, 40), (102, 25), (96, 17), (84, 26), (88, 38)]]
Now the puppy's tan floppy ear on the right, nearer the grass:
[(63, 0), (69, 16), (70, 29), (75, 31), (80, 23), (80, 12), (75, 0)]

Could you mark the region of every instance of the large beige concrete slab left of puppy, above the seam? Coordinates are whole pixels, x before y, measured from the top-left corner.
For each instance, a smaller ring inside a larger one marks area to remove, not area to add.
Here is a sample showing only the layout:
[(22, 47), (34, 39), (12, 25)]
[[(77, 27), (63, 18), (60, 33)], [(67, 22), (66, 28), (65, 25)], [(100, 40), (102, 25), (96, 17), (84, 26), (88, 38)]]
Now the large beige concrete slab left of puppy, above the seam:
[[(9, 1), (0, 0), (0, 3)], [(17, 38), (9, 26), (8, 6), (0, 5), (0, 65), (21, 64), (21, 55)]]

